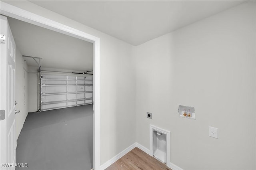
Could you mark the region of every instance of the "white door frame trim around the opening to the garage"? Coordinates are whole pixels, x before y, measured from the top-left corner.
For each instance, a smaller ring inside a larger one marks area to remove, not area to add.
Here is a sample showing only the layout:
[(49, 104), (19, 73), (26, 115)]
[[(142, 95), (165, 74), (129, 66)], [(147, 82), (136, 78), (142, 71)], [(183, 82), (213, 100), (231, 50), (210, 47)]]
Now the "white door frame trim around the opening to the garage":
[(100, 169), (100, 38), (1, 2), (1, 14), (93, 43), (93, 169)]

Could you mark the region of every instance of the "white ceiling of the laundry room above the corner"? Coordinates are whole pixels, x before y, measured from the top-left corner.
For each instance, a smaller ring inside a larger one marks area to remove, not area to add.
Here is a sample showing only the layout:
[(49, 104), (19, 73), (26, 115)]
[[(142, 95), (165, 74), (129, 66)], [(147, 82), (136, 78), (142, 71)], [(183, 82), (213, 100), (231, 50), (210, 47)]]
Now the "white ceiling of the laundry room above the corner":
[(139, 45), (244, 1), (33, 0), (38, 6)]

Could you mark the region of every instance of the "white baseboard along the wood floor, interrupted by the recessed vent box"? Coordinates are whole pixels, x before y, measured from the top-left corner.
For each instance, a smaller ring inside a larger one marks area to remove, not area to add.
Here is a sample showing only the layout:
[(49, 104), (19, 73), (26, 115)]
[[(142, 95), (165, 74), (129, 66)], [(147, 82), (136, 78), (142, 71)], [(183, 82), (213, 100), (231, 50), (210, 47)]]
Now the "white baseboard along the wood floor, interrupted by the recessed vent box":
[[(119, 154), (117, 154), (116, 156), (114, 156), (113, 158), (111, 158), (110, 160), (105, 162), (104, 164), (102, 164), (100, 166), (100, 169), (104, 170), (104, 169), (108, 168), (108, 166), (110, 166), (111, 164), (116, 162), (118, 159), (120, 159), (122, 156), (124, 156), (125, 154), (130, 152), (135, 147), (139, 148), (140, 150), (142, 150), (142, 151), (144, 151), (144, 152), (146, 152), (147, 154), (150, 155), (150, 151), (149, 151), (148, 148), (146, 148), (145, 146), (142, 146), (141, 144), (135, 142), (134, 144), (132, 144), (131, 146), (124, 149), (122, 152), (120, 152)], [(182, 168), (178, 167), (177, 165), (173, 164), (172, 162), (170, 162), (169, 168), (171, 168), (172, 170), (182, 170)]]

